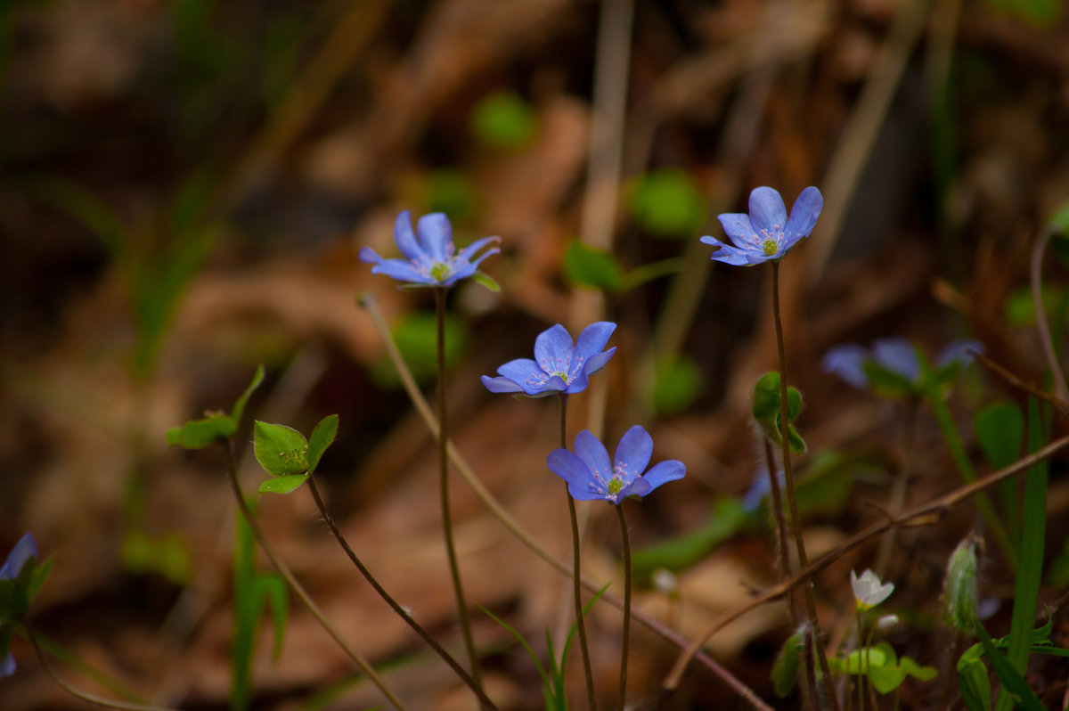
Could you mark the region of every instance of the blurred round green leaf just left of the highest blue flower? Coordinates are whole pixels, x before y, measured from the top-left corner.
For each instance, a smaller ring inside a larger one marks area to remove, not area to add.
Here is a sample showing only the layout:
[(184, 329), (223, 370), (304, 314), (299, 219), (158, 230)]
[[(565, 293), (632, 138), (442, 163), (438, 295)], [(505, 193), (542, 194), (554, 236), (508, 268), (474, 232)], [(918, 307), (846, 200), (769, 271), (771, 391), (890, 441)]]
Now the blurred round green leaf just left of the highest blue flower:
[(628, 197), (635, 221), (655, 236), (692, 236), (706, 219), (706, 200), (691, 176), (678, 168), (640, 175), (631, 184)]

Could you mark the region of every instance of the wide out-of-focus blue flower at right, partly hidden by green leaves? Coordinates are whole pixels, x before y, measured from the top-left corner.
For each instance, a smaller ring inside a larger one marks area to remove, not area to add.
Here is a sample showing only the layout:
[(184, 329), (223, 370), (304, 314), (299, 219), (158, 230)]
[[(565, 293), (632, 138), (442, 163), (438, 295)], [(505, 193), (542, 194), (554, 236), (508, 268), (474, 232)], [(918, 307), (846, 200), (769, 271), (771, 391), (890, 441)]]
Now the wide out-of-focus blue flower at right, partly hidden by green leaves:
[[(943, 349), (935, 358), (936, 375), (944, 380), (960, 368), (973, 362), (973, 353), (983, 353), (983, 344), (979, 341), (955, 341)], [(897, 390), (911, 390), (919, 395), (923, 385), (924, 369), (921, 355), (916, 346), (904, 338), (884, 338), (873, 341), (871, 349), (856, 343), (836, 345), (821, 360), (824, 372), (838, 375), (856, 388), (867, 388), (872, 385), (872, 378), (882, 381), (887, 389), (889, 375), (901, 382)], [(907, 395), (895, 392), (895, 395)]]

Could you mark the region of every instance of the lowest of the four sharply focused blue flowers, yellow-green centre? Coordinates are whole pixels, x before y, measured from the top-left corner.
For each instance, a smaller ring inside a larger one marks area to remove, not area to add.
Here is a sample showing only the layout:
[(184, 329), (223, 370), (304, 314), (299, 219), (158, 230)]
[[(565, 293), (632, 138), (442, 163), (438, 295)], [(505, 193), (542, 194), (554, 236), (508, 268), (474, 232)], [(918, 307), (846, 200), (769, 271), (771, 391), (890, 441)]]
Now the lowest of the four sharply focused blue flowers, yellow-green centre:
[(653, 437), (636, 424), (620, 438), (611, 462), (605, 445), (589, 430), (584, 430), (575, 436), (574, 453), (555, 449), (545, 463), (568, 482), (572, 498), (580, 501), (604, 499), (618, 505), (629, 496), (646, 496), (661, 484), (682, 479), (686, 474), (686, 467), (677, 460), (661, 462), (646, 472), (652, 454)]

